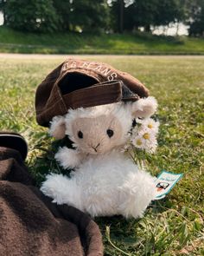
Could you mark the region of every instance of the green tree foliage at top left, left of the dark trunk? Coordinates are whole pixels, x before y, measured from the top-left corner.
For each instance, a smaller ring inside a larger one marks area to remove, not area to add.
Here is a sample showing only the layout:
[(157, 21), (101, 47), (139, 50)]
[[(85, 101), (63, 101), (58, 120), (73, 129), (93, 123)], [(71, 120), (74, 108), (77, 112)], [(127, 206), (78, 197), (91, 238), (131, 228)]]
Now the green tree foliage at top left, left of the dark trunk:
[(109, 12), (105, 0), (0, 0), (0, 10), (5, 25), (32, 32), (105, 30)]

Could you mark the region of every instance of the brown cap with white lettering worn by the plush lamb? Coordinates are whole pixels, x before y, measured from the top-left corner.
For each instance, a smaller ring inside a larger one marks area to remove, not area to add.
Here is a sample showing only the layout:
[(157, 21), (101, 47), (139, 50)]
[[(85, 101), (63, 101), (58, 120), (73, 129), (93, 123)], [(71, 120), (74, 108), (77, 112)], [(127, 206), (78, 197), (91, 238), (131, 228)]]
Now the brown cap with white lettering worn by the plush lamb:
[(55, 115), (65, 115), (68, 108), (137, 101), (148, 95), (148, 89), (128, 73), (102, 62), (68, 58), (38, 86), (36, 120), (48, 127)]

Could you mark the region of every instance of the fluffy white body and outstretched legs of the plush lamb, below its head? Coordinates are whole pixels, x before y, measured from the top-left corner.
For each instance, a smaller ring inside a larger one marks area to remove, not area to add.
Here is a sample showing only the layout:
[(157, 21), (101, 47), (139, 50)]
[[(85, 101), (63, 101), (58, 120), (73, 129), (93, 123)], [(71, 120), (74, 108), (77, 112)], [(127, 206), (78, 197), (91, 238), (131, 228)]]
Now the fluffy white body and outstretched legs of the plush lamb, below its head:
[(58, 204), (68, 204), (92, 216), (122, 214), (141, 217), (155, 197), (154, 178), (124, 154), (89, 158), (72, 173), (48, 175), (41, 191)]

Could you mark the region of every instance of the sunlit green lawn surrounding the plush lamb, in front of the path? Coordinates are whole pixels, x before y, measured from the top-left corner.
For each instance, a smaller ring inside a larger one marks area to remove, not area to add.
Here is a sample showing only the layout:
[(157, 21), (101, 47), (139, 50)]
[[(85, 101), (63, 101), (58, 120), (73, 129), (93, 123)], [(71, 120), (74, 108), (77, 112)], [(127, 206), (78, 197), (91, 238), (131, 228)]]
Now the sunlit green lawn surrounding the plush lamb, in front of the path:
[[(162, 169), (184, 174), (165, 199), (153, 202), (142, 219), (96, 219), (103, 233), (105, 255), (204, 255), (204, 57), (91, 59), (130, 72), (156, 96), (161, 122), (159, 148), (148, 157), (148, 170), (155, 175)], [(27, 162), (37, 184), (48, 169), (58, 166), (47, 129), (35, 122), (35, 89), (62, 61), (62, 57), (0, 60), (0, 129), (21, 132), (29, 141)]]

